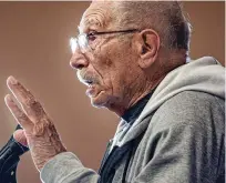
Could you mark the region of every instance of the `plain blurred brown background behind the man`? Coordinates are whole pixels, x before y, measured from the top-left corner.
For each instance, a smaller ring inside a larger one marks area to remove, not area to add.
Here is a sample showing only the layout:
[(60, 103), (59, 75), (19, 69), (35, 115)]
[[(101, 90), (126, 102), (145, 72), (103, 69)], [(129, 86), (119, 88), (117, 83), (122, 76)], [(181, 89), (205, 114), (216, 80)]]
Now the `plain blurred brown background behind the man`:
[[(69, 39), (76, 35), (90, 2), (0, 2), (0, 146), (16, 121), (4, 105), (6, 79), (14, 75), (41, 100), (69, 151), (97, 170), (119, 118), (92, 108), (85, 87), (70, 68)], [(225, 2), (184, 2), (193, 26), (191, 57), (225, 63)], [(30, 154), (19, 165), (19, 183), (40, 183)]]

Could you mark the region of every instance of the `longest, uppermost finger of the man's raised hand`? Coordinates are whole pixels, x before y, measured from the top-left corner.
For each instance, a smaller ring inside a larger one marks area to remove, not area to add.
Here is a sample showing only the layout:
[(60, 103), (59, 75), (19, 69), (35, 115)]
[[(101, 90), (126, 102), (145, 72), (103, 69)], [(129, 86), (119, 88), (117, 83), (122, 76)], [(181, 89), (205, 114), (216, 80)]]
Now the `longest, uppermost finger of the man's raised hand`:
[(16, 96), (16, 99), (21, 104), (24, 112), (31, 116), (33, 122), (39, 121), (44, 115), (44, 110), (40, 102), (35, 100), (32, 93), (27, 90), (20, 82), (18, 82), (13, 77), (9, 77), (7, 84)]

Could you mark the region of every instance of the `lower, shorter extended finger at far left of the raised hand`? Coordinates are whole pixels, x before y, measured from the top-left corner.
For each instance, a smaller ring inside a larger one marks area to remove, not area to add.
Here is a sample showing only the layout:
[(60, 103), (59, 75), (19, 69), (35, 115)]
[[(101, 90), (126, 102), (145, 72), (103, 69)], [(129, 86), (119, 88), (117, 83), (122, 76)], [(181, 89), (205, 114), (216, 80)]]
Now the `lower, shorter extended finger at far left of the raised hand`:
[(6, 95), (4, 102), (17, 122), (27, 131), (32, 130), (32, 122), (27, 114), (14, 103), (10, 94)]

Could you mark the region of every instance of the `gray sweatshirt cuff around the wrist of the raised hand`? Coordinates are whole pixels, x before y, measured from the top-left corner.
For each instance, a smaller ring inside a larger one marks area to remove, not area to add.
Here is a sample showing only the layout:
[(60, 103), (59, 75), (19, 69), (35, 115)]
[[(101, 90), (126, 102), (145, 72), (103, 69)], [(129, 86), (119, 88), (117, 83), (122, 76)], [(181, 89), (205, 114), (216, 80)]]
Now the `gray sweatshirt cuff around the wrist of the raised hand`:
[(51, 159), (41, 170), (43, 183), (97, 183), (99, 174), (84, 167), (71, 152), (64, 152)]

